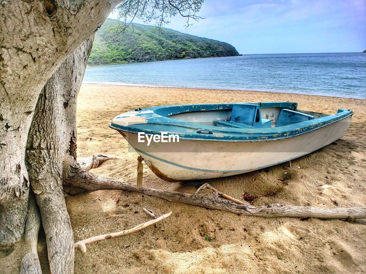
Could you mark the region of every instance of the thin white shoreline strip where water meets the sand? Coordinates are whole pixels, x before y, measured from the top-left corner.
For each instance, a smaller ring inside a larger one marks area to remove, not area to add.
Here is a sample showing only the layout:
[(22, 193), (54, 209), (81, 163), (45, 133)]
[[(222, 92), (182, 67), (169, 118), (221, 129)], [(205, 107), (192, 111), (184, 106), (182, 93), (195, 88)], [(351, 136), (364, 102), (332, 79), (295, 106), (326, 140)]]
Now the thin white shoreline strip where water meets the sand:
[(82, 83), (82, 86), (87, 85), (100, 85), (103, 87), (146, 87), (146, 88), (174, 88), (174, 89), (191, 89), (191, 90), (210, 90), (210, 91), (235, 91), (235, 92), (264, 92), (271, 94), (290, 94), (290, 95), (305, 95), (305, 96), (319, 96), (319, 97), (328, 97), (328, 98), (341, 98), (341, 99), (355, 99), (355, 100), (366, 100), (366, 98), (355, 98), (355, 97), (341, 97), (341, 96), (331, 96), (331, 95), (321, 95), (321, 94), (307, 94), (307, 93), (297, 93), (297, 92), (285, 92), (285, 91), (268, 91), (268, 90), (236, 90), (236, 89), (225, 89), (225, 88), (197, 88), (197, 87), (178, 87), (178, 86), (168, 86), (168, 85), (149, 85), (149, 84), (132, 84), (132, 83), (120, 83), (113, 84), (113, 82), (108, 83)]

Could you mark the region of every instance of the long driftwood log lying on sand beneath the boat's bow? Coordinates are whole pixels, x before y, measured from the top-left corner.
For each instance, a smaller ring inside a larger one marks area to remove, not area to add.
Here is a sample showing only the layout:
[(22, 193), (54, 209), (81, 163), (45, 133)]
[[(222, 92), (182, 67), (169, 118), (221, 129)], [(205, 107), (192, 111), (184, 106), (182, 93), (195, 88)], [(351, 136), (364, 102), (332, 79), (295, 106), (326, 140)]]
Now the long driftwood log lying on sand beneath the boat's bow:
[(315, 208), (309, 206), (287, 206), (273, 203), (267, 206), (242, 205), (213, 195), (199, 193), (181, 193), (152, 188), (137, 189), (136, 184), (120, 182), (114, 179), (100, 178), (90, 172), (78, 172), (67, 180), (65, 190), (68, 194), (101, 189), (118, 189), (156, 196), (168, 201), (181, 202), (203, 208), (225, 210), (244, 216), (257, 217), (311, 217), (319, 219), (366, 218), (366, 207)]

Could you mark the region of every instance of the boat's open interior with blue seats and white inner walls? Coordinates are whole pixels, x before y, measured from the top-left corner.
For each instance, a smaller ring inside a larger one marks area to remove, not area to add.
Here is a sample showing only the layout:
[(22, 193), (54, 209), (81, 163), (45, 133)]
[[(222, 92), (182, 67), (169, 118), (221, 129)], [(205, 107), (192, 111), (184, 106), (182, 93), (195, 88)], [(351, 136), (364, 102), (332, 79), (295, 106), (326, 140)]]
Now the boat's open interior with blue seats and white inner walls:
[(231, 109), (186, 111), (168, 115), (169, 118), (202, 125), (226, 128), (274, 128), (328, 116), (293, 107), (262, 103), (236, 103)]

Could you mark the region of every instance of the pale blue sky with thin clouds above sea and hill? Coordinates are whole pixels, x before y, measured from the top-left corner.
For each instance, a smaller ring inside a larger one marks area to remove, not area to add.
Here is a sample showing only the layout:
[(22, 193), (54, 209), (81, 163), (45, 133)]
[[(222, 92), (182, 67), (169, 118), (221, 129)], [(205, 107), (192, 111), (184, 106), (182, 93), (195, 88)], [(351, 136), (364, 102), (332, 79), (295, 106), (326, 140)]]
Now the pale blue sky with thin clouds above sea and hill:
[(165, 27), (230, 43), (241, 54), (366, 49), (366, 0), (205, 0), (197, 15), (205, 19), (188, 28), (180, 16)]

